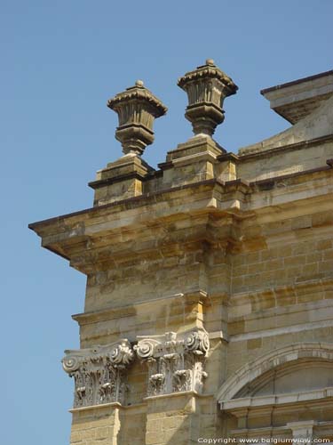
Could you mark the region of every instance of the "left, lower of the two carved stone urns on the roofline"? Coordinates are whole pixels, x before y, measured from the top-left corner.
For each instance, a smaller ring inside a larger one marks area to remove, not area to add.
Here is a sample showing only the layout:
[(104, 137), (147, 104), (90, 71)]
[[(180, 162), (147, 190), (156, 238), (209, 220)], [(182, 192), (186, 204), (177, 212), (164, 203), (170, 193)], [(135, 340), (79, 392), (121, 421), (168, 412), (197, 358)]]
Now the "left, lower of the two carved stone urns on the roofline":
[(142, 80), (116, 94), (107, 102), (107, 107), (118, 115), (115, 139), (122, 143), (125, 155), (142, 155), (147, 145), (154, 142), (154, 119), (167, 112), (162, 101), (144, 86)]

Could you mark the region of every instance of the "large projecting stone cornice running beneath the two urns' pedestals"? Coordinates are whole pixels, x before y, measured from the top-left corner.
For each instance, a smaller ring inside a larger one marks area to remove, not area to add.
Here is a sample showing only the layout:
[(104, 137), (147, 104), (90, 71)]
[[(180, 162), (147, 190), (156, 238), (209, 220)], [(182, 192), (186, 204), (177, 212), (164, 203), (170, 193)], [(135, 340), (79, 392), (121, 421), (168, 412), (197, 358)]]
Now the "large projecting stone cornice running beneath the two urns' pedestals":
[[(260, 224), (329, 209), (331, 173), (330, 166), (326, 166), (261, 182), (212, 179), (93, 207), (29, 227), (42, 237), (44, 247), (69, 259), (73, 267), (84, 273), (90, 273), (91, 267), (99, 269), (103, 263), (116, 267), (115, 262), (144, 252), (163, 255), (164, 251), (177, 251), (179, 246), (200, 249), (202, 243), (232, 247), (251, 237), (258, 240), (259, 232), (264, 243), (266, 237), (271, 243), (275, 237), (279, 243), (281, 235), (266, 233)], [(243, 233), (244, 220), (249, 223)], [(309, 227), (311, 230), (311, 222)]]

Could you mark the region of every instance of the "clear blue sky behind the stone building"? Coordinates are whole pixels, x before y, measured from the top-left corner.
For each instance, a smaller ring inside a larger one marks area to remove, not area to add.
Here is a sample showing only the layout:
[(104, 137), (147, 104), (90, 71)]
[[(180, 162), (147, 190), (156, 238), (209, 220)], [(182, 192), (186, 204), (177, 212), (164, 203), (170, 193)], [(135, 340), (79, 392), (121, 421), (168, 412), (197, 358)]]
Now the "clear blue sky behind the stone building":
[(28, 223), (90, 207), (87, 182), (121, 156), (107, 99), (140, 78), (169, 107), (152, 166), (185, 142), (186, 71), (213, 58), (239, 92), (225, 102), (227, 150), (288, 126), (259, 90), (332, 69), (333, 2), (1, 0), (1, 322), (4, 445), (68, 443), (79, 346), (70, 316), (85, 277), (39, 247)]

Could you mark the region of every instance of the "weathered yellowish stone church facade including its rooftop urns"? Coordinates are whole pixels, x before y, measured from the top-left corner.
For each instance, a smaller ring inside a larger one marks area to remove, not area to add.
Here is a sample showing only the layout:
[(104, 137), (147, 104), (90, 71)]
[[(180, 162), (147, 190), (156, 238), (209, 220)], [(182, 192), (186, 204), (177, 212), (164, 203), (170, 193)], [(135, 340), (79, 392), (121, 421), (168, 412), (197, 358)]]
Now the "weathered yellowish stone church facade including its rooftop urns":
[(333, 71), (263, 90), (291, 126), (238, 154), (212, 138), (234, 81), (178, 86), (191, 139), (145, 162), (167, 109), (137, 81), (93, 206), (29, 226), (87, 276), (70, 443), (333, 441)]

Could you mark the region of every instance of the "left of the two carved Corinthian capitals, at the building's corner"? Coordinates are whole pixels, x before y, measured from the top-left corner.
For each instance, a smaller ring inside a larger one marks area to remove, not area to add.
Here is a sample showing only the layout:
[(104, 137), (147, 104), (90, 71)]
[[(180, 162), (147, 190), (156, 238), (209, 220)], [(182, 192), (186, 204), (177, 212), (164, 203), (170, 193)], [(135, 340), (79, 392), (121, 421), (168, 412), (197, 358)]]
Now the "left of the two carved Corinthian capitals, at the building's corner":
[(125, 368), (134, 357), (128, 340), (65, 353), (62, 367), (75, 379), (74, 408), (123, 403), (127, 391)]

